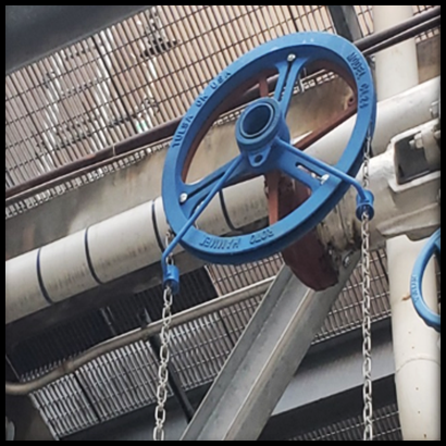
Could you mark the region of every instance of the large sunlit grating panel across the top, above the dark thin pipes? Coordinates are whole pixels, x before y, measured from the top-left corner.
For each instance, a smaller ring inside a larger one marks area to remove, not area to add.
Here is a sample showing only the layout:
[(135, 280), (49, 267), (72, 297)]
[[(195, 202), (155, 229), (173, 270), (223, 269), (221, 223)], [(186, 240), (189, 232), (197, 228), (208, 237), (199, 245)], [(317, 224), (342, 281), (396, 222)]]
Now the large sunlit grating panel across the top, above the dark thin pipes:
[[(355, 8), (372, 33), (371, 7)], [(12, 73), (5, 188), (181, 116), (235, 59), (302, 30), (334, 32), (327, 8), (159, 5)]]

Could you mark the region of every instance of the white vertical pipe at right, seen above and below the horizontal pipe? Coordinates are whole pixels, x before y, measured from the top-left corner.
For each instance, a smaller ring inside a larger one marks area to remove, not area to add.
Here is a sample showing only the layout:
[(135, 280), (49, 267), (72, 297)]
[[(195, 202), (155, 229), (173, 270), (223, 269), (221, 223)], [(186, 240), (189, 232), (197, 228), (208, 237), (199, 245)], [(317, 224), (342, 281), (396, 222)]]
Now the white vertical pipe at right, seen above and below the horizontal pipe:
[[(410, 18), (411, 5), (375, 5), (375, 32)], [(414, 39), (406, 40), (375, 54), (377, 100), (418, 84)], [(438, 89), (439, 94), (439, 89)], [(425, 197), (429, 199), (429, 197)], [(409, 298), (410, 274), (423, 243), (406, 236), (387, 240), (396, 391), (404, 439), (439, 439), (439, 350), (437, 334), (419, 318)], [(436, 300), (435, 272), (424, 275), (425, 298)]]

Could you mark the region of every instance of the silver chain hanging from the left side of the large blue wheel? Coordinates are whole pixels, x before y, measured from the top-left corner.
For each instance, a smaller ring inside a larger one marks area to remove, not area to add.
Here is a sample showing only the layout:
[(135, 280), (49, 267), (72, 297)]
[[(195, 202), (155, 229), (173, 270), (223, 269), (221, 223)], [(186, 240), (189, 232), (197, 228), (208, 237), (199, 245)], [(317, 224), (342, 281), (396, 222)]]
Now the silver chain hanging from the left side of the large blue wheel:
[[(168, 231), (165, 236), (165, 246), (172, 240), (172, 233)], [(173, 256), (169, 256), (168, 263), (173, 264)], [(165, 401), (168, 400), (168, 382), (169, 382), (169, 360), (171, 358), (171, 322), (173, 293), (169, 285), (163, 290), (164, 307), (162, 310), (162, 329), (160, 333), (160, 367), (158, 369), (158, 387), (157, 387), (157, 408), (154, 409), (154, 429), (153, 441), (164, 441), (164, 422), (165, 422)]]

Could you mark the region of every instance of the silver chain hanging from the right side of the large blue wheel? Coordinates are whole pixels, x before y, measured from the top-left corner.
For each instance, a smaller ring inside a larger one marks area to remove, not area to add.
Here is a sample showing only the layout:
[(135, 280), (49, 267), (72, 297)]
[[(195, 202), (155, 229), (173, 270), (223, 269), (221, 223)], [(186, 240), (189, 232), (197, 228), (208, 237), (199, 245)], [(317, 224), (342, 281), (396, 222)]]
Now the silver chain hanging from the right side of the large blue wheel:
[[(362, 164), (362, 185), (369, 187), (369, 161), (371, 150), (371, 137), (367, 138), (364, 159)], [(370, 315), (370, 231), (369, 213), (362, 213), (361, 219), (361, 272), (362, 272), (362, 375), (363, 375), (363, 439), (373, 439), (373, 406), (372, 406), (372, 334)]]

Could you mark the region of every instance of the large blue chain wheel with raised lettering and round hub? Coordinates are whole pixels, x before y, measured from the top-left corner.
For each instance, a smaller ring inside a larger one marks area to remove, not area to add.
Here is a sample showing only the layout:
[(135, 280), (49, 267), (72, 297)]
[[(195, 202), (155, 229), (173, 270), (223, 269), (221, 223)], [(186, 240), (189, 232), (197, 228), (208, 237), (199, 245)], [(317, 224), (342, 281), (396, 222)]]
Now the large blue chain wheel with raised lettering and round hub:
[[(366, 59), (348, 40), (329, 33), (298, 33), (264, 44), (232, 63), (198, 96), (183, 117), (168, 150), (162, 198), (168, 222), (175, 234), (185, 225), (197, 207), (208, 203), (219, 188), (247, 177), (278, 170), (303, 183), (311, 196), (290, 214), (273, 225), (248, 235), (218, 237), (194, 226), (182, 232), (183, 247), (213, 263), (243, 263), (281, 251), (314, 227), (339, 201), (350, 186), (336, 175), (327, 175), (318, 160), (290, 144), (285, 117), (295, 83), (310, 63), (327, 62), (348, 73), (357, 90), (357, 119), (350, 139), (334, 166), (340, 173), (356, 176), (363, 158), (363, 147), (372, 137), (376, 100), (372, 75)], [(219, 115), (221, 103), (258, 79), (262, 73), (277, 72), (272, 97), (251, 102), (238, 117), (235, 137), (240, 150), (235, 159), (205, 178), (186, 184), (184, 172), (209, 128)], [(315, 161), (315, 162), (314, 162)], [(333, 173), (333, 172), (332, 172)], [(205, 205), (203, 205), (205, 206)], [(202, 207), (203, 207), (202, 206)]]

